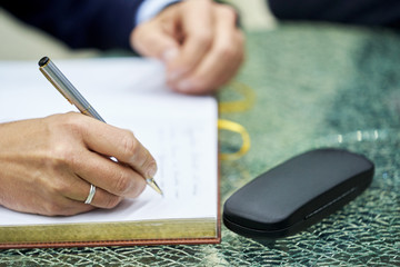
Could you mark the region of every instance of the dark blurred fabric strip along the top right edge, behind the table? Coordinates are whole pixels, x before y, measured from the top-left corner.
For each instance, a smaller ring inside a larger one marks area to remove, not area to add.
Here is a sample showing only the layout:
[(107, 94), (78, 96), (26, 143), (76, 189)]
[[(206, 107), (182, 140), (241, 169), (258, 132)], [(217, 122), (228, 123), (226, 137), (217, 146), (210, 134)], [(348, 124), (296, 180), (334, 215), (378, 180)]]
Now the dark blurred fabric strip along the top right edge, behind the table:
[(268, 0), (282, 20), (400, 27), (399, 0)]

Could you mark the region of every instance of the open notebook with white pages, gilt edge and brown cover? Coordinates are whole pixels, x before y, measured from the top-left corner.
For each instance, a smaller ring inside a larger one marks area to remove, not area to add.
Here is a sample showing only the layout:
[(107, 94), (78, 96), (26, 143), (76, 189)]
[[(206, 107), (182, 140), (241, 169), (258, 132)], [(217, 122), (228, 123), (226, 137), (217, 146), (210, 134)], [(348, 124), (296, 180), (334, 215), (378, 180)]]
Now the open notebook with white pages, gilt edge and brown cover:
[[(130, 129), (158, 161), (151, 188), (111, 210), (71, 217), (21, 214), (0, 206), (0, 248), (220, 240), (218, 107), (164, 86), (162, 66), (144, 59), (54, 60), (113, 126)], [(0, 62), (0, 122), (76, 110), (34, 61)]]

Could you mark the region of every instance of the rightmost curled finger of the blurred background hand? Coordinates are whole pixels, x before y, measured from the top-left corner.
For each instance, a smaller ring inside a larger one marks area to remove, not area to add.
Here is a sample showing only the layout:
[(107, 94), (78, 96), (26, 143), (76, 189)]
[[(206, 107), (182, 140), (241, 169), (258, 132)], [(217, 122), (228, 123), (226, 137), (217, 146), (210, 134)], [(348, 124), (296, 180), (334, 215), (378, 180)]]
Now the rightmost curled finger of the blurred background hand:
[(170, 85), (189, 93), (210, 92), (230, 80), (243, 61), (243, 36), (236, 28), (236, 13), (229, 7), (216, 11), (216, 40), (210, 52), (190, 75)]

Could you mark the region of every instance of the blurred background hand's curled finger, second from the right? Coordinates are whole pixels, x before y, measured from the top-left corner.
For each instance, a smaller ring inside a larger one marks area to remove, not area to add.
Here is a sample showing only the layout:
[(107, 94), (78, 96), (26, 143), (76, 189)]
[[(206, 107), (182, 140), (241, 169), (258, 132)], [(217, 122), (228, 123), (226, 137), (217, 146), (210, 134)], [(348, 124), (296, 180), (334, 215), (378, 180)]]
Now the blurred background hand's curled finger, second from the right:
[(184, 40), (179, 57), (168, 66), (168, 80), (176, 80), (190, 72), (207, 55), (213, 39), (213, 16), (210, 1), (182, 3), (177, 14), (181, 20)]

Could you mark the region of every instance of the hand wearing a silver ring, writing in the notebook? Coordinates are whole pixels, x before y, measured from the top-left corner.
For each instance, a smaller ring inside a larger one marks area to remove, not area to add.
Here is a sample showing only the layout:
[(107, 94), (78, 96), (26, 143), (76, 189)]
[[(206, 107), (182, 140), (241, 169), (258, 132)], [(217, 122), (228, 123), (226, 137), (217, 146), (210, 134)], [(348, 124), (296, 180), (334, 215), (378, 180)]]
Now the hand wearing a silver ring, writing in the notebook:
[[(157, 171), (132, 132), (76, 112), (2, 123), (0, 148), (0, 205), (23, 212), (112, 208), (139, 196)], [(91, 184), (97, 191), (86, 205)]]

